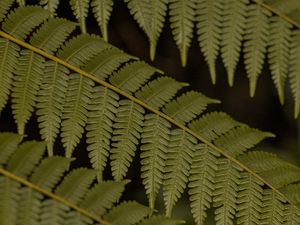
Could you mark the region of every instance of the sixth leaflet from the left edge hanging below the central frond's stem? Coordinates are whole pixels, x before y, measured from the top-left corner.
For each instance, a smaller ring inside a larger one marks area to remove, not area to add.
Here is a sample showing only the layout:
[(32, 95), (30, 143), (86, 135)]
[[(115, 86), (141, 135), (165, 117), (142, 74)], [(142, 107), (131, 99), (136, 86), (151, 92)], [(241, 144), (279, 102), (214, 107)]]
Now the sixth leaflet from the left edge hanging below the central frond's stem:
[(121, 100), (113, 125), (111, 168), (115, 180), (122, 180), (135, 155), (142, 132), (145, 110), (129, 100)]

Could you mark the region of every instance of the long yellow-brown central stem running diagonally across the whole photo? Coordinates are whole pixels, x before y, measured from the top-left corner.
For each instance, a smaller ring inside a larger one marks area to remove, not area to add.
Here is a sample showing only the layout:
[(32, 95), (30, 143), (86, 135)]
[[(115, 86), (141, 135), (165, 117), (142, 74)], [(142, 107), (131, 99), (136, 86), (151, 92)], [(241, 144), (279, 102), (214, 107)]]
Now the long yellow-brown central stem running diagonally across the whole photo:
[(290, 201), (283, 193), (281, 193), (278, 189), (276, 189), (273, 185), (271, 185), (269, 182), (267, 182), (264, 178), (262, 178), (261, 176), (259, 176), (257, 173), (255, 173), (254, 171), (252, 171), (250, 168), (248, 168), (247, 166), (245, 166), (243, 163), (241, 163), (239, 160), (237, 160), (236, 158), (232, 157), (230, 154), (226, 153), (225, 150), (217, 147), (216, 145), (210, 143), (209, 141), (207, 141), (205, 138), (203, 138), (201, 135), (199, 135), (198, 133), (192, 131), (191, 129), (189, 129), (188, 127), (182, 125), (181, 123), (177, 122), (176, 120), (174, 120), (173, 118), (171, 118), (170, 116), (164, 114), (163, 112), (159, 111), (159, 110), (156, 110), (154, 108), (152, 108), (151, 106), (149, 106), (148, 104), (146, 104), (145, 102), (139, 100), (138, 98), (128, 94), (127, 92), (125, 91), (122, 91), (121, 89), (107, 83), (106, 81), (104, 80), (101, 80), (101, 79), (98, 79), (97, 77), (93, 76), (92, 74), (76, 67), (76, 66), (73, 66), (71, 64), (69, 64), (68, 62), (54, 56), (54, 55), (51, 55), (39, 48), (36, 48), (24, 41), (21, 41), (7, 33), (5, 33), (4, 31), (0, 30), (0, 36), (2, 36), (3, 38), (6, 38), (24, 48), (27, 48), (31, 51), (34, 51), (35, 53), (37, 54), (40, 54), (44, 57), (46, 57), (47, 59), (50, 59), (50, 60), (53, 60), (65, 67), (67, 67), (68, 69), (76, 72), (76, 73), (79, 73), (80, 75), (82, 76), (85, 76), (93, 81), (95, 81), (96, 83), (100, 84), (100, 85), (103, 85), (104, 87), (107, 87), (109, 89), (111, 89), (112, 91), (115, 91), (117, 92), (118, 94), (124, 96), (125, 98), (128, 98), (130, 99), (131, 101), (139, 104), (140, 106), (144, 107), (145, 109), (155, 113), (156, 115), (160, 116), (161, 118), (164, 118), (166, 119), (167, 121), (169, 121), (170, 123), (172, 123), (173, 125), (177, 126), (178, 128), (182, 129), (183, 131), (191, 134), (192, 136), (194, 136), (195, 138), (197, 138), (199, 141), (201, 141), (202, 143), (206, 144), (208, 147), (214, 149), (215, 151), (219, 152), (220, 154), (222, 154), (224, 157), (226, 157), (227, 159), (229, 159), (230, 161), (234, 162), (235, 164), (237, 164), (241, 169), (249, 172), (250, 174), (252, 174), (254, 177), (256, 177), (257, 179), (259, 179), (260, 181), (262, 181), (263, 183), (265, 183), (267, 186), (269, 186), (273, 191), (275, 191), (276, 193), (278, 193), (280, 196), (283, 196), (284, 198), (286, 198), (288, 200), (288, 202), (291, 204), (291, 205), (294, 205), (292, 203), (292, 201)]

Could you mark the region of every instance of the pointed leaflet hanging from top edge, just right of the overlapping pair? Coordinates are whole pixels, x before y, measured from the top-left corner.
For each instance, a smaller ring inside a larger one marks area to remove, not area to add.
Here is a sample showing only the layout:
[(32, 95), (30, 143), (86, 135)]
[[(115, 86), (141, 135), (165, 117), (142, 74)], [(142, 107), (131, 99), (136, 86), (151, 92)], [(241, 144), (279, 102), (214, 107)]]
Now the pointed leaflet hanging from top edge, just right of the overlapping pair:
[(186, 66), (187, 53), (193, 38), (195, 3), (194, 0), (171, 0), (169, 5), (171, 29), (183, 66)]

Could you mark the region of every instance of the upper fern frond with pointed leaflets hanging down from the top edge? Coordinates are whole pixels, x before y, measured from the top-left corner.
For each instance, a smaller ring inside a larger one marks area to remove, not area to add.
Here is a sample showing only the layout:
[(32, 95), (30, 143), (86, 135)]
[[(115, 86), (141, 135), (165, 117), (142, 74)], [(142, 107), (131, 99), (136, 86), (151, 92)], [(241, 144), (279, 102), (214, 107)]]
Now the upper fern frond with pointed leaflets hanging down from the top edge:
[[(264, 62), (270, 67), (281, 104), (289, 79), (294, 97), (294, 115), (300, 112), (299, 60), (300, 2), (296, 0), (123, 0), (149, 39), (150, 58), (155, 56), (157, 42), (167, 15), (173, 39), (180, 51), (182, 65), (187, 64), (188, 51), (197, 33), (198, 45), (209, 66), (211, 80), (216, 83), (216, 60), (222, 58), (230, 86), (243, 52), (249, 93), (254, 96)], [(38, 1), (37, 1), (38, 2)], [(55, 14), (59, 0), (40, 0)], [(107, 26), (114, 0), (70, 0), (70, 5), (86, 32), (88, 7), (97, 19), (102, 36), (108, 40)], [(23, 4), (24, 5), (24, 4)], [(118, 12), (116, 12), (118, 13)], [(267, 58), (267, 59), (266, 59)]]

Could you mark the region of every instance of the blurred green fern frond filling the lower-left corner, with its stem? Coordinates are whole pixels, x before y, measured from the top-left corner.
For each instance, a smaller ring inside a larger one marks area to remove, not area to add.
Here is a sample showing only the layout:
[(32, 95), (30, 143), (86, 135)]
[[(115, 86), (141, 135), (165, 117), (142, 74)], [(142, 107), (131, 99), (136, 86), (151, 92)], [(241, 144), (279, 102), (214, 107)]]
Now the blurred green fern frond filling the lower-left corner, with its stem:
[[(0, 164), (1, 224), (133, 225), (153, 221), (145, 219), (149, 208), (137, 202), (116, 205), (128, 181), (95, 183), (96, 171), (86, 168), (73, 169), (64, 176), (72, 159), (43, 158), (45, 144), (30, 141), (18, 146), (17, 134), (1, 133), (0, 140), (4, 139), (0, 155), (10, 157), (1, 158)], [(161, 220), (170, 225), (180, 222), (166, 217)]]

